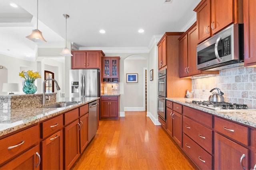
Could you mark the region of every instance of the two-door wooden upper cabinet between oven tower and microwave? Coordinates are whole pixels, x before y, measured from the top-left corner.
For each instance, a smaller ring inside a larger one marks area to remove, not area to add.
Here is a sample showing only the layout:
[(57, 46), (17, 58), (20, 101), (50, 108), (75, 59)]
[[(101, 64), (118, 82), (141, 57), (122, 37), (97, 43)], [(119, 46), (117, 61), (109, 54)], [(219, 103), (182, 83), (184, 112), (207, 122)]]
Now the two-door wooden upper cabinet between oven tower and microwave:
[(199, 74), (219, 74), (219, 71), (203, 71), (196, 69), (196, 23), (194, 23), (182, 36), (180, 41), (179, 76), (180, 78), (196, 76)]

